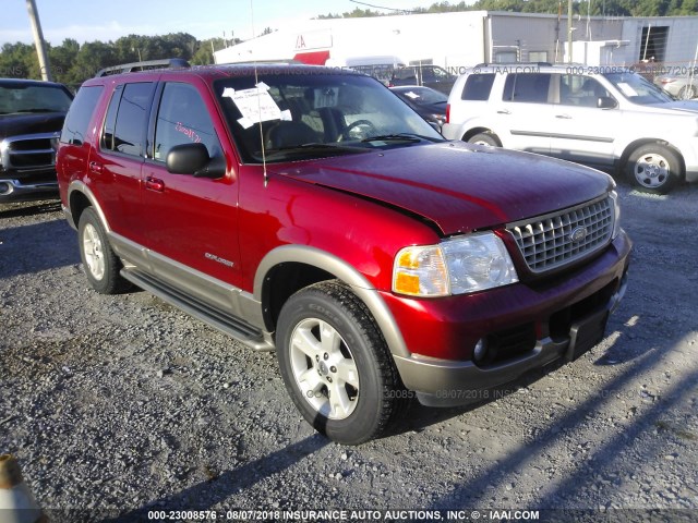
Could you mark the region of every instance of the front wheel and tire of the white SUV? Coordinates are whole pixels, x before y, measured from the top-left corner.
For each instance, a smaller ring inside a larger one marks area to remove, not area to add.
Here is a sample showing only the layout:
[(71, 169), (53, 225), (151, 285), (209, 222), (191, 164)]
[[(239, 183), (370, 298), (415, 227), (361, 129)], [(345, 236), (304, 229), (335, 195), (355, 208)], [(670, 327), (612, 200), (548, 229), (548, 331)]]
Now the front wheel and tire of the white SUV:
[(662, 144), (646, 144), (628, 157), (625, 173), (630, 183), (647, 193), (666, 194), (682, 179), (681, 159)]

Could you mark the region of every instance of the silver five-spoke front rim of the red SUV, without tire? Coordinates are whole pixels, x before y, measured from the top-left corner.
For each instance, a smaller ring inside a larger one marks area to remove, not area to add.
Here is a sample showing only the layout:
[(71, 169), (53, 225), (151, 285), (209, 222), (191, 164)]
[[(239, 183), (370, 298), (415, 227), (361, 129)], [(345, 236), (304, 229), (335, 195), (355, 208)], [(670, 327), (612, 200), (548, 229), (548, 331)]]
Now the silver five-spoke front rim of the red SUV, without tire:
[(328, 419), (345, 419), (357, 408), (359, 372), (341, 335), (326, 321), (308, 318), (290, 339), (290, 364), (305, 401)]

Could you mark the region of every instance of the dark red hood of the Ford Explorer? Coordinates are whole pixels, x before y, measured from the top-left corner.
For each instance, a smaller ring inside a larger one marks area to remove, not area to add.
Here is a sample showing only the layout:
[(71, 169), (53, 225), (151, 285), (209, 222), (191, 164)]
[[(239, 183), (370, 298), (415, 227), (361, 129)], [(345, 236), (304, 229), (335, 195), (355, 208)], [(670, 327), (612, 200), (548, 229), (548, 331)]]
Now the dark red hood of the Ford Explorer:
[(443, 234), (489, 229), (604, 194), (611, 177), (539, 155), (462, 142), (269, 166), (272, 172), (417, 214)]

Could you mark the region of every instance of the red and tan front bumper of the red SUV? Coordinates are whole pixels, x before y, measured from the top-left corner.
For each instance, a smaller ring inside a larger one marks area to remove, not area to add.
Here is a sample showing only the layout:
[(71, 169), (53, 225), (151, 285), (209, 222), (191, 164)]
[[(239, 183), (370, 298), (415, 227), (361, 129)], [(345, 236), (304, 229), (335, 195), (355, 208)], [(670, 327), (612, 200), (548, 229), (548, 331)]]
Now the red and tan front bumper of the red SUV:
[[(425, 344), (424, 337), (416, 336), (414, 329), (404, 327), (406, 317), (398, 312), (398, 325), (413, 351), (409, 356), (394, 355), (402, 382), (422, 404), (454, 406), (483, 398), (479, 391), (513, 381), (531, 369), (558, 360), (575, 360), (603, 338), (607, 316), (618, 306), (627, 288), (630, 248), (629, 239), (621, 232), (606, 253), (549, 288), (532, 291), (526, 285), (510, 285), (492, 295), (482, 293), (480, 300), (471, 302), (460, 296), (462, 307), (450, 317), (444, 309), (432, 309), (430, 314), (436, 316), (431, 325), (422, 323), (420, 327), (432, 339), (431, 346)], [(576, 304), (585, 303), (592, 306), (570, 313)], [(421, 305), (429, 311), (430, 305), (438, 302)], [(392, 308), (395, 313), (396, 308)], [(568, 324), (561, 331), (553, 324), (559, 324), (563, 313)], [(471, 316), (472, 320), (465, 319)], [(419, 323), (417, 318), (411, 320), (412, 325)], [(531, 325), (531, 331), (535, 332), (529, 350), (484, 365), (473, 363), (472, 348), (477, 340), (519, 325)], [(431, 354), (425, 355), (428, 351)], [(461, 357), (453, 357), (457, 352)], [(438, 353), (450, 357), (440, 357)]]

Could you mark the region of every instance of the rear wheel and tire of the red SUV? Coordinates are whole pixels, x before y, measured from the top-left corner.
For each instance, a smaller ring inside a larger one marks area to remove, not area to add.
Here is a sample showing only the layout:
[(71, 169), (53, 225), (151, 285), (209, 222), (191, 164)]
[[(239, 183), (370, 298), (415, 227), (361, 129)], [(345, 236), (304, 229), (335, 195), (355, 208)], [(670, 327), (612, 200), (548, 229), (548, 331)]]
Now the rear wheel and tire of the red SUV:
[(85, 276), (95, 291), (118, 294), (131, 288), (131, 283), (119, 273), (121, 260), (111, 250), (105, 228), (92, 207), (80, 216), (77, 243)]

